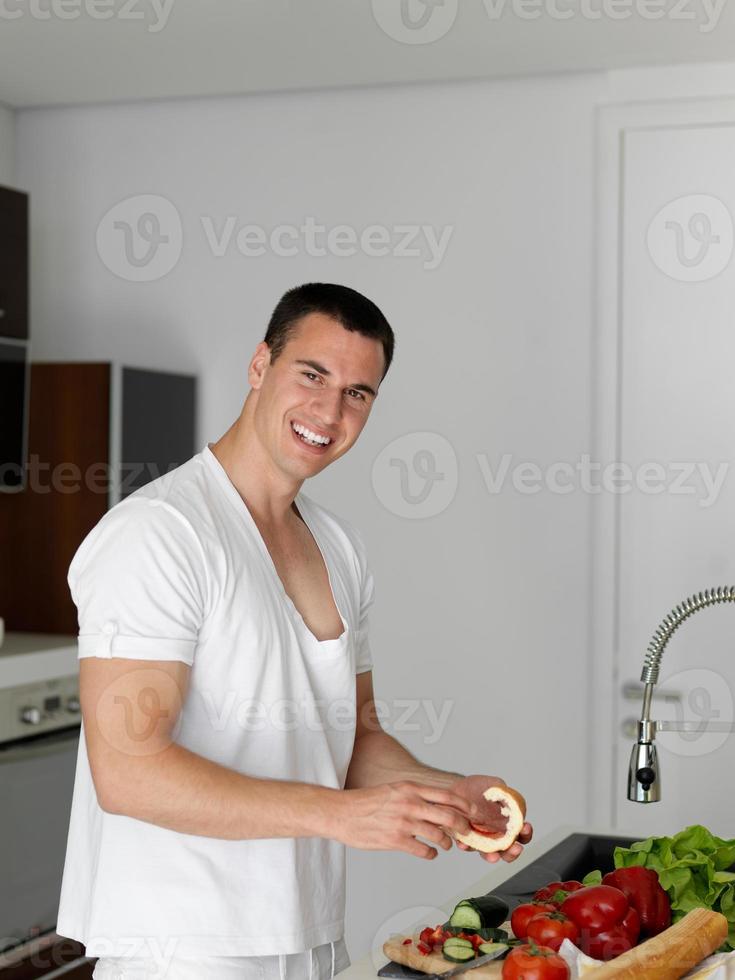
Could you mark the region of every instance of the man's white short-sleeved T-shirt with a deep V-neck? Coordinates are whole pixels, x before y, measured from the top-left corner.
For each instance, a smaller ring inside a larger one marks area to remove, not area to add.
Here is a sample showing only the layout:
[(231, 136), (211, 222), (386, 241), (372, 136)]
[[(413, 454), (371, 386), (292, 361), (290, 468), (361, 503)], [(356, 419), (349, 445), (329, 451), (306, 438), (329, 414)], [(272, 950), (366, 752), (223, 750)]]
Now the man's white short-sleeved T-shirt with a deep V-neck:
[[(79, 657), (182, 660), (175, 741), (248, 776), (344, 788), (373, 579), (351, 524), (303, 493), (344, 631), (318, 641), (209, 446), (108, 511), (69, 568)], [(296, 953), (340, 939), (344, 846), (221, 840), (103, 811), (84, 727), (57, 931), (91, 956)], [(136, 949), (138, 950), (136, 953)], [(172, 947), (172, 951), (173, 947)]]

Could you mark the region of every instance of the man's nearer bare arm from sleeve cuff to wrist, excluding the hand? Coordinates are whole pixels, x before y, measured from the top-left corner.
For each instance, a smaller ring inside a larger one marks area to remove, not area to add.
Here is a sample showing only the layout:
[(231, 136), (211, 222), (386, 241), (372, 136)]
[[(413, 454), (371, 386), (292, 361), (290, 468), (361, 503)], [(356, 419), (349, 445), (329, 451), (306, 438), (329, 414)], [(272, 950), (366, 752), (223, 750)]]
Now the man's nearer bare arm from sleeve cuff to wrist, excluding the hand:
[(336, 835), (339, 790), (251, 778), (174, 741), (189, 671), (180, 661), (80, 661), (87, 752), (102, 809), (228, 840)]

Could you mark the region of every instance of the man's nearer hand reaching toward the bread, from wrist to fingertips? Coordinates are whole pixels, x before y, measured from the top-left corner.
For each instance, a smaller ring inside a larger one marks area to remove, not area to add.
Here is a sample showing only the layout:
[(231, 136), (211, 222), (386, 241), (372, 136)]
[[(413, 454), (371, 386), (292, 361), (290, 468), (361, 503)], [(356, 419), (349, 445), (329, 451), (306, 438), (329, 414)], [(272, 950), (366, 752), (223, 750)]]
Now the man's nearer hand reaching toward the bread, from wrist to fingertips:
[(335, 814), (330, 836), (348, 847), (405, 851), (430, 861), (439, 852), (417, 837), (448, 851), (452, 838), (444, 828), (460, 834), (470, 829), (467, 801), (437, 786), (402, 780), (344, 790), (342, 796), (344, 808)]

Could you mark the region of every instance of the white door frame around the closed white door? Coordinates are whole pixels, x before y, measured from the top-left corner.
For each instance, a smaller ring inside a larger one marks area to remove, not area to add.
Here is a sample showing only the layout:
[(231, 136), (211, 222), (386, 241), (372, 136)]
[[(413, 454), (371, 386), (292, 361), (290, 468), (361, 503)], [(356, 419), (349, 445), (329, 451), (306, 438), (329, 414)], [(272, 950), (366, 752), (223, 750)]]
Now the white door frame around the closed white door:
[[(623, 201), (625, 148), (640, 130), (735, 125), (735, 97), (675, 99), (599, 106), (596, 114), (597, 245), (592, 338), (593, 458), (620, 461), (623, 341)], [(588, 672), (588, 803), (594, 827), (617, 829), (618, 794), (625, 792), (627, 759), (618, 753), (620, 496), (592, 498), (591, 608)], [(641, 665), (644, 648), (641, 648)], [(610, 760), (610, 762), (608, 762)], [(623, 828), (625, 829), (625, 828)]]

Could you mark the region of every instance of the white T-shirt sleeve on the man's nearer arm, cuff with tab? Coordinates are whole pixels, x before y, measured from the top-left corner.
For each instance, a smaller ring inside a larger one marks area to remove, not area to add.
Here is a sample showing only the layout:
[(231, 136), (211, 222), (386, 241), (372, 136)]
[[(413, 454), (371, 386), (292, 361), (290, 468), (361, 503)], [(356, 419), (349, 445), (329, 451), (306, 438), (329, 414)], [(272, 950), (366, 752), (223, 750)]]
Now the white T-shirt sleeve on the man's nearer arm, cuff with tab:
[(206, 603), (199, 540), (165, 501), (113, 507), (79, 546), (68, 574), (81, 657), (191, 665)]

